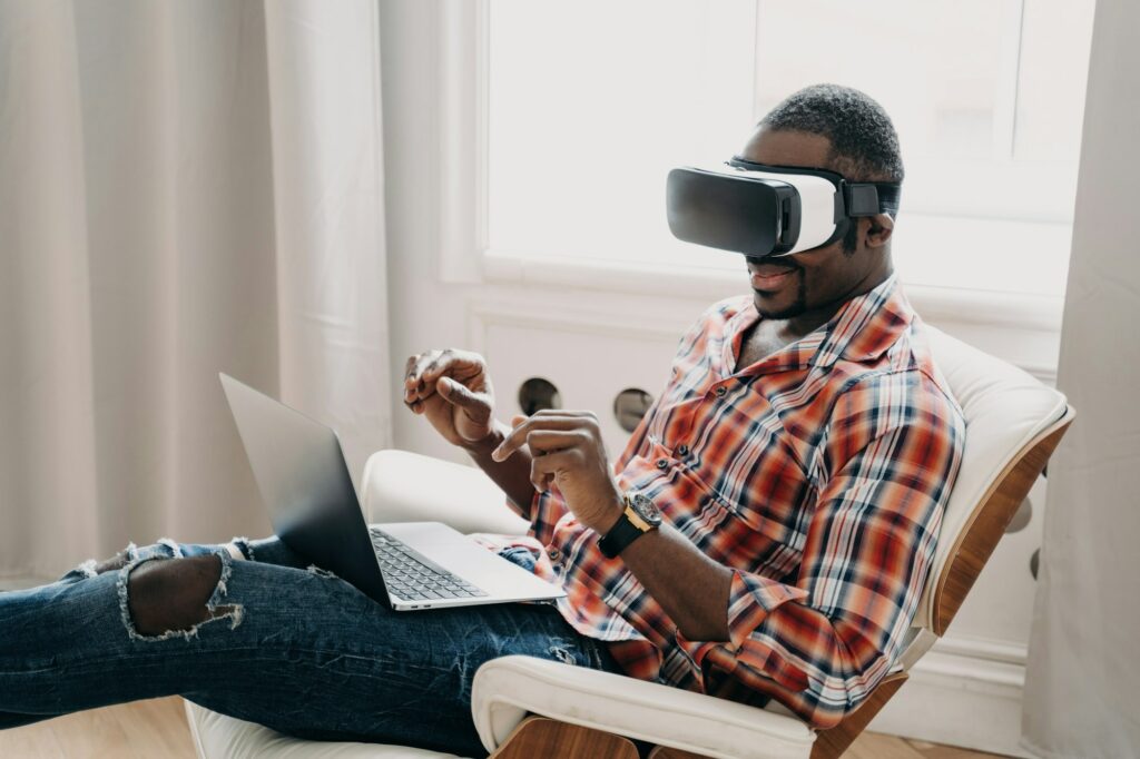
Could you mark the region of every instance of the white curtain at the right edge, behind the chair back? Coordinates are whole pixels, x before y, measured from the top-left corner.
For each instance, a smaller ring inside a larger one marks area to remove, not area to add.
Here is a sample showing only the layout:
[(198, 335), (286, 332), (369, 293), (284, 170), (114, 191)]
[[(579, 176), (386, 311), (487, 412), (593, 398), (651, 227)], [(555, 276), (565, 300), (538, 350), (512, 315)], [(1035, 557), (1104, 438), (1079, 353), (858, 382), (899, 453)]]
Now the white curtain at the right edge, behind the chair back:
[(1140, 6), (1099, 0), (1049, 464), (1024, 744), (1140, 756)]

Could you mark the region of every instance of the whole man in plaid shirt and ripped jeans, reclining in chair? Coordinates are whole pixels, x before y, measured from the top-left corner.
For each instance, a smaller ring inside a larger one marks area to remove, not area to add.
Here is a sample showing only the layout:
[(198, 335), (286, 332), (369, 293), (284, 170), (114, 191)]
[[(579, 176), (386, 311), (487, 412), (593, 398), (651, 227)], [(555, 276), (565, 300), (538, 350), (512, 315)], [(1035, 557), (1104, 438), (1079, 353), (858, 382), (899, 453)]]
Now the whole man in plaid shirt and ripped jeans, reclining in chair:
[[(833, 85), (777, 106), (741, 157), (903, 177), (887, 115)], [(0, 727), (180, 693), (294, 735), (472, 754), (471, 678), (507, 653), (834, 725), (899, 652), (963, 441), (893, 275), (893, 229), (860, 218), (832, 245), (749, 259), (752, 295), (682, 338), (612, 468), (592, 414), (508, 427), (481, 357), (408, 360), (406, 405), (530, 520), (502, 553), (564, 586), (556, 610), (397, 614), (274, 538), (131, 546), (0, 595)]]

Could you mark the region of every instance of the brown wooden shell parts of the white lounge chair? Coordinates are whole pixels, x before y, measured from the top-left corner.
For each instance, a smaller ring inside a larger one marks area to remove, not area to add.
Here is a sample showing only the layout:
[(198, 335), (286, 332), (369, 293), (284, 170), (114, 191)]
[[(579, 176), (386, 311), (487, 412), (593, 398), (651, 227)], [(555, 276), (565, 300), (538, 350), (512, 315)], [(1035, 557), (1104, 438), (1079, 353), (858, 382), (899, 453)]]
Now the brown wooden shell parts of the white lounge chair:
[[(1064, 415), (1026, 443), (1002, 472), (994, 478), (990, 489), (978, 500), (958, 536), (950, 558), (937, 578), (934, 590), (931, 629), (943, 636), (974, 587), (1005, 528), (1025, 500), (1029, 488), (1045, 468), (1061, 438), (1073, 423), (1075, 413), (1066, 406)], [(906, 682), (906, 672), (885, 677), (858, 709), (816, 735), (812, 759), (834, 759), (844, 753), (879, 710)], [(637, 759), (637, 749), (629, 740), (601, 731), (579, 727), (547, 719), (528, 717), (507, 738), (495, 759), (530, 759), (531, 757), (612, 757)], [(666, 746), (657, 746), (650, 759), (703, 759), (699, 754)]]

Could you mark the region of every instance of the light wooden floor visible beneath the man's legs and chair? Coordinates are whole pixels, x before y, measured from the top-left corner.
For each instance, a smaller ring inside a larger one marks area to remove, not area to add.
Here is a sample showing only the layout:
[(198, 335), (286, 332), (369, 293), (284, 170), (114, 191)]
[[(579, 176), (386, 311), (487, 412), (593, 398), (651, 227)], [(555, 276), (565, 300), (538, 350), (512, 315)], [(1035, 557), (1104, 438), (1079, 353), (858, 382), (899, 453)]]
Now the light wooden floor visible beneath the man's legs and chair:
[[(967, 751), (864, 733), (845, 754), (852, 759), (982, 759)], [(178, 696), (92, 709), (11, 731), (0, 731), (0, 757), (19, 759), (195, 759)]]

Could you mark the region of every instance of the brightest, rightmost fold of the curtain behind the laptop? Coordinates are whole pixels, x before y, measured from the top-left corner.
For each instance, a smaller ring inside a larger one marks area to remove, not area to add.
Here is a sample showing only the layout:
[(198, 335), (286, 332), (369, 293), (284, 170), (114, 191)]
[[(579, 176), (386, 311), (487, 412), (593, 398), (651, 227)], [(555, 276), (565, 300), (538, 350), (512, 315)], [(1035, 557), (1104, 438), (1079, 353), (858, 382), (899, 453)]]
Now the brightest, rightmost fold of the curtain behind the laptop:
[(282, 395), (337, 430), (358, 478), (391, 429), (377, 8), (266, 16)]

